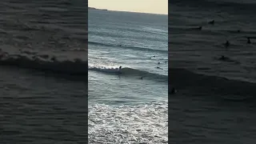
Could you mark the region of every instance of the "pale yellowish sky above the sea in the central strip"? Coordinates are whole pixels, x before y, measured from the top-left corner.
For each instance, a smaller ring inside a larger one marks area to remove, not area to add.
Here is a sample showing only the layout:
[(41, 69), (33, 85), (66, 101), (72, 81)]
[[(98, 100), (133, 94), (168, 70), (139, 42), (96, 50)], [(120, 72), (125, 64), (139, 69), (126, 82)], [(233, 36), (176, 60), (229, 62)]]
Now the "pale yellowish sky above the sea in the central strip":
[(88, 0), (88, 6), (107, 10), (168, 14), (168, 0)]

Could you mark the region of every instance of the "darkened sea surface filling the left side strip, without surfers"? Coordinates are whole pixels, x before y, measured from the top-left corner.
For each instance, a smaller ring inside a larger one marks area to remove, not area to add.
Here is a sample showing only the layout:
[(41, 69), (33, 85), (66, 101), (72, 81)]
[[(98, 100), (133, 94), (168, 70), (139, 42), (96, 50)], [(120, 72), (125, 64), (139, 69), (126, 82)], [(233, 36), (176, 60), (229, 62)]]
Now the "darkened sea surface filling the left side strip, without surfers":
[(1, 143), (86, 142), (86, 6), (1, 1)]

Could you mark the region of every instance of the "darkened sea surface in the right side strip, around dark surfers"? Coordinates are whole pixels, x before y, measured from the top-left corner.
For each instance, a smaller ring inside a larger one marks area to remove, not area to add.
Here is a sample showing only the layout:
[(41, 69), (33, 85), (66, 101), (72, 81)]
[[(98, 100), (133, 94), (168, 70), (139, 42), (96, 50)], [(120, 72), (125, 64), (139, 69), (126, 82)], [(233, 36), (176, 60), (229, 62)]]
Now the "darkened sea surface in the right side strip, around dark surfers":
[(256, 142), (255, 6), (169, 2), (169, 86), (178, 90), (169, 94), (171, 143)]

